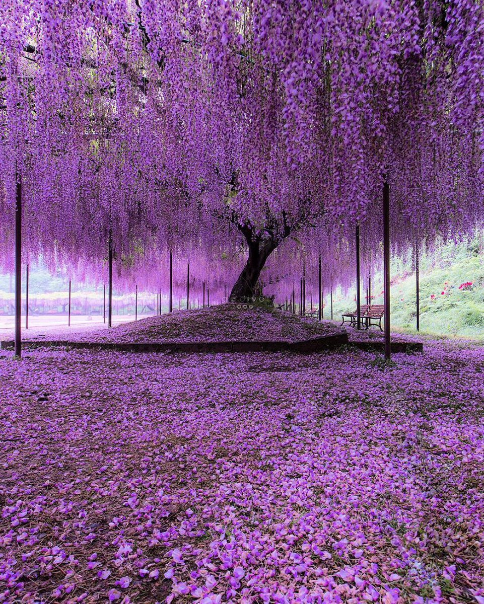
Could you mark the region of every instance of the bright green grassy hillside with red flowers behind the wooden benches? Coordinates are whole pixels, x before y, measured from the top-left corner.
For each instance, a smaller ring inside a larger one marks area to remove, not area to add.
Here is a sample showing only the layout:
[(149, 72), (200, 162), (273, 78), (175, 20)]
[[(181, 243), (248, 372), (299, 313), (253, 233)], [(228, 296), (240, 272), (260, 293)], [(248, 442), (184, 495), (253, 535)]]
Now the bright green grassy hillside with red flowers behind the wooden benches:
[[(459, 289), (463, 283), (472, 286)], [(373, 303), (383, 303), (382, 279), (373, 285)], [(362, 288), (362, 301), (366, 280)], [(415, 330), (415, 270), (408, 259), (392, 261), (392, 322), (405, 331)], [(329, 303), (329, 299), (326, 299)], [(354, 309), (354, 293), (337, 292), (337, 313)], [(435, 254), (424, 255), (420, 262), (420, 326), (422, 333), (484, 336), (484, 249), (480, 239), (458, 245), (445, 245)]]

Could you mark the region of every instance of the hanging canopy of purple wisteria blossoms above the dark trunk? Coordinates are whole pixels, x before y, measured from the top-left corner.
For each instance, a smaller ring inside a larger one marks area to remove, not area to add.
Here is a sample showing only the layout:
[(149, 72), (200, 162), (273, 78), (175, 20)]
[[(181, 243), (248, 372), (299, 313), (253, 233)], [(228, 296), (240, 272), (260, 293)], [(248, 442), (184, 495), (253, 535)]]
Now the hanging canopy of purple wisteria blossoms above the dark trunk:
[(381, 255), (385, 178), (395, 252), (470, 233), (483, 48), (472, 0), (4, 0), (2, 265), (16, 175), (26, 258), (103, 278), (111, 234), (153, 288), (168, 249), (234, 280), (244, 228), (285, 240), (274, 275), (321, 254), (345, 283), (355, 223)]

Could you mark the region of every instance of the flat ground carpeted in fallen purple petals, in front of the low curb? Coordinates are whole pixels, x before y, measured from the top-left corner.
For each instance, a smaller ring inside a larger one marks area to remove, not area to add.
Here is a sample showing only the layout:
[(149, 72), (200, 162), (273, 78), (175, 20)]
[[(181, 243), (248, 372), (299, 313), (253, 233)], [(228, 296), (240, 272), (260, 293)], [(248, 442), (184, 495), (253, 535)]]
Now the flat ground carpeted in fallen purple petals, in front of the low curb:
[(0, 357), (0, 602), (484, 602), (484, 349)]

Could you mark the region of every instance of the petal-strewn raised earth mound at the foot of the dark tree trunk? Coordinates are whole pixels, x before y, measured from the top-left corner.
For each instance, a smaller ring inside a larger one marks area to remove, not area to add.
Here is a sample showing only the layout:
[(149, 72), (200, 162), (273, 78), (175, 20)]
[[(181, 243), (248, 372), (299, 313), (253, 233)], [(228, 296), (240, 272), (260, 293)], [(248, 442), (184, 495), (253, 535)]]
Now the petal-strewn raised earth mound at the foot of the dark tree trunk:
[[(273, 344), (269, 349), (291, 347), (296, 342), (312, 342), (317, 347), (331, 342), (332, 345), (347, 342), (346, 330), (334, 323), (318, 323), (312, 318), (292, 315), (278, 309), (263, 307), (243, 307), (240, 304), (221, 304), (205, 309), (184, 310), (150, 316), (139, 321), (124, 323), (112, 329), (64, 327), (54, 330), (29, 330), (23, 333), (26, 345), (42, 342), (45, 345), (89, 344), (103, 347), (119, 347), (136, 350), (160, 350), (170, 344), (178, 344), (183, 350), (196, 352), (202, 345), (207, 351), (221, 352), (216, 344), (253, 344), (248, 349), (256, 349), (258, 342)], [(5, 340), (2, 345), (9, 347), (13, 342)], [(85, 346), (84, 346), (85, 347)], [(198, 347), (198, 348), (197, 348)], [(236, 350), (225, 346), (227, 350)], [(224, 350), (225, 350), (224, 348)], [(240, 348), (237, 348), (237, 350)], [(268, 349), (268, 347), (263, 347)]]

